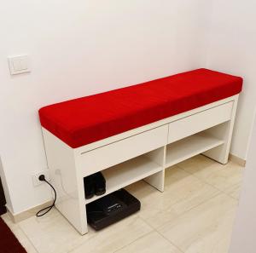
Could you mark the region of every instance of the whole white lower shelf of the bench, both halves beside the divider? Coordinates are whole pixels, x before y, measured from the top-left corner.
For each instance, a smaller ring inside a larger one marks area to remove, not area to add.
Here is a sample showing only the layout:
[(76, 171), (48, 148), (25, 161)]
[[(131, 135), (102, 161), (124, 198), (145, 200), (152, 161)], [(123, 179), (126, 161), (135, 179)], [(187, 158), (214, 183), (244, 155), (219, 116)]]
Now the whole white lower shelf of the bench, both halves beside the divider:
[[(188, 158), (191, 158), (201, 152), (206, 152), (214, 147), (224, 144), (224, 141), (218, 140), (206, 132), (191, 135), (181, 141), (176, 141), (166, 147), (166, 168), (174, 164), (178, 164)], [(102, 196), (94, 196), (85, 199), (85, 204), (89, 204), (98, 198), (113, 193), (120, 188), (126, 187), (133, 182), (142, 180), (149, 175), (154, 175), (163, 170), (160, 164), (156, 164), (147, 156), (143, 155), (128, 160), (122, 164), (115, 165), (106, 170), (102, 170), (102, 174), (106, 179), (107, 192)]]

